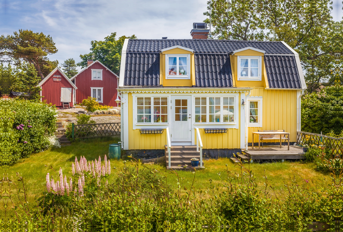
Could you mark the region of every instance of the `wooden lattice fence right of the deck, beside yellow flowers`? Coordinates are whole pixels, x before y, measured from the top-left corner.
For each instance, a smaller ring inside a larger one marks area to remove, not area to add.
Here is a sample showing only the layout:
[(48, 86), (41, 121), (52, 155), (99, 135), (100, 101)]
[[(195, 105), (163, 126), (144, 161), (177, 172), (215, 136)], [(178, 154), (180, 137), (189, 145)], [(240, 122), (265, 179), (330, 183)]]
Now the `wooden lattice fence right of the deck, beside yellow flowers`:
[(334, 155), (343, 155), (343, 137), (335, 138), (322, 134), (314, 134), (304, 131), (297, 131), (297, 144), (323, 144), (332, 150)]

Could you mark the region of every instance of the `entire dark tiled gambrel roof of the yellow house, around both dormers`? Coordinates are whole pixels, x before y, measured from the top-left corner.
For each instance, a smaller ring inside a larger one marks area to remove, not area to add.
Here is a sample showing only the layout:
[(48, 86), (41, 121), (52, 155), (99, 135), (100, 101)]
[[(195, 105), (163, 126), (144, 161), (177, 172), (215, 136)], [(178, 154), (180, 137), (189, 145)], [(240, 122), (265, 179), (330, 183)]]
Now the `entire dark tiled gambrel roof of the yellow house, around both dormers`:
[[(246, 47), (266, 54), (293, 54), (279, 41), (130, 39), (124, 86), (159, 86), (159, 52), (182, 46), (194, 50), (195, 87), (233, 87), (229, 53)], [(264, 55), (270, 88), (301, 88), (293, 55)]]

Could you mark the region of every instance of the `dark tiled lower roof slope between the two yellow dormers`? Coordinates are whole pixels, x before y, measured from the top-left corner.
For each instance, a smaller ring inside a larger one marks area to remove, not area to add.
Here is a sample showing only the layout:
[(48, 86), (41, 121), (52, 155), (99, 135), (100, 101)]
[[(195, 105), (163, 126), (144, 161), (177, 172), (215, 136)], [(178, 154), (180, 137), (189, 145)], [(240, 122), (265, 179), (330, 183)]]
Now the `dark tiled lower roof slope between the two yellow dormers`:
[(233, 87), (228, 54), (195, 54), (196, 87)]

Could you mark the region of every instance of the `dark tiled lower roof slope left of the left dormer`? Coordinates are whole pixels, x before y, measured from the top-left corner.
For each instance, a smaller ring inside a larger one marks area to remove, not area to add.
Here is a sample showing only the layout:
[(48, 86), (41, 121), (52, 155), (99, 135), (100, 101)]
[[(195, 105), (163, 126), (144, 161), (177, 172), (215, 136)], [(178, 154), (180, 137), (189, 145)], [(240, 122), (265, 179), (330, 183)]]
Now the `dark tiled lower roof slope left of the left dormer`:
[(159, 86), (159, 54), (127, 53), (125, 86)]

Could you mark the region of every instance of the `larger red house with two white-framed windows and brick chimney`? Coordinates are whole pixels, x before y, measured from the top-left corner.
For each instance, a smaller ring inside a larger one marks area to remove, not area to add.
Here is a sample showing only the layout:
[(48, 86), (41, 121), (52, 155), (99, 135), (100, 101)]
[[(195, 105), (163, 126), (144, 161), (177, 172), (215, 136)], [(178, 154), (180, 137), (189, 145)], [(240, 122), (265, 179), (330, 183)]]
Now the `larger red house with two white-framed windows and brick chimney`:
[(115, 100), (119, 77), (98, 60), (88, 60), (87, 63), (87, 67), (70, 78), (78, 87), (75, 101), (81, 103), (83, 99), (92, 96), (100, 105), (118, 106)]

